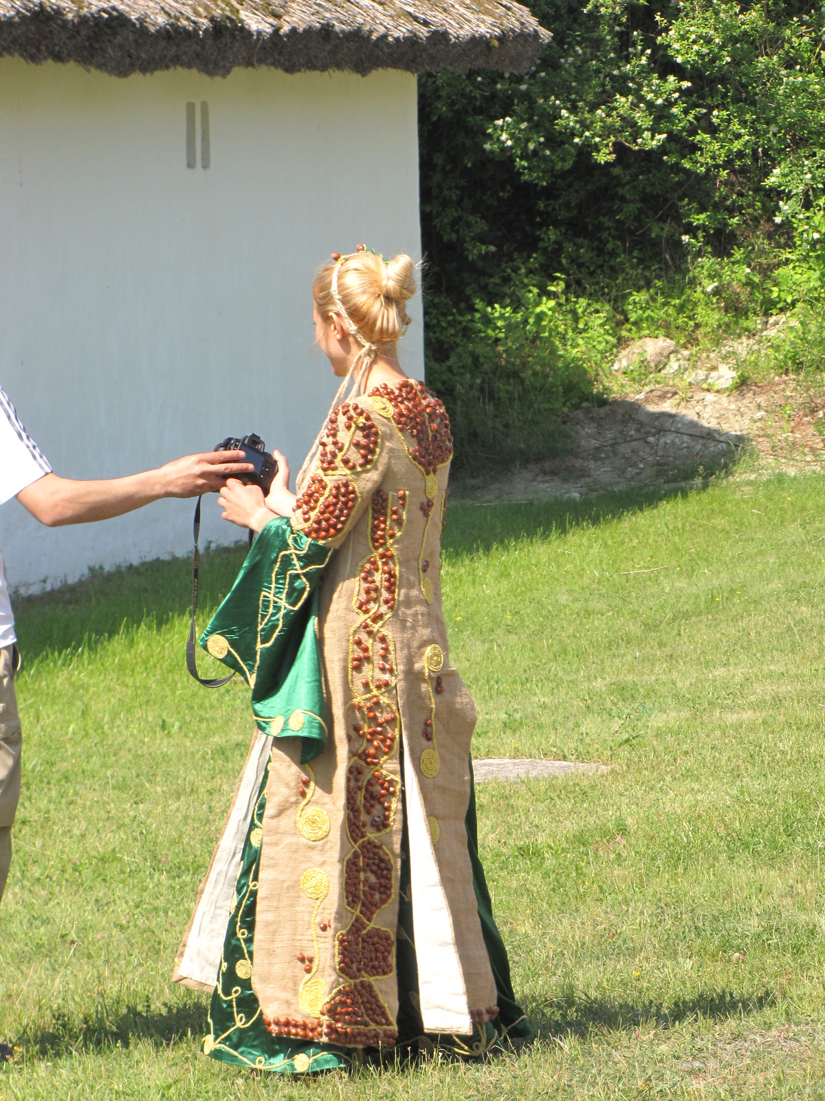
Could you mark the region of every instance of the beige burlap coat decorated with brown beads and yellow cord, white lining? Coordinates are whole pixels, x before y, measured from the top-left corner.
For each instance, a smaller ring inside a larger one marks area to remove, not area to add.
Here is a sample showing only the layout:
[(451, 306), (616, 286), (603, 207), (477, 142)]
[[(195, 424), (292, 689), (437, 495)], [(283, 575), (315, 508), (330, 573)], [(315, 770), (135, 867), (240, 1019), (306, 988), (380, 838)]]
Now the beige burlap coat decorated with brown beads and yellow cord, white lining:
[(496, 1015), (464, 828), (475, 709), (441, 608), (451, 455), (441, 402), (406, 380), (333, 411), (299, 487), (293, 525), (337, 548), (319, 604), (327, 749), (300, 765), (299, 739), (256, 734), (176, 966), (180, 982), (215, 984), (271, 753), (252, 985), (275, 1035), (395, 1042), (404, 814), (425, 1029), (468, 1035)]

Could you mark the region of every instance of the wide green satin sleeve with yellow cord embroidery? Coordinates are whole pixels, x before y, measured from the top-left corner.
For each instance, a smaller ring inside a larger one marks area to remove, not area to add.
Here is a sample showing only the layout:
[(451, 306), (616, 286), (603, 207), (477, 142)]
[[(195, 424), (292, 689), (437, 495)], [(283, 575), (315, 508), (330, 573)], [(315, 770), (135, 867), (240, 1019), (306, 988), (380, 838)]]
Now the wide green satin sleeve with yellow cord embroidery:
[(252, 544), (200, 645), (252, 689), (257, 727), (301, 739), (301, 762), (327, 744), (318, 650), (318, 582), (332, 548), (271, 520)]

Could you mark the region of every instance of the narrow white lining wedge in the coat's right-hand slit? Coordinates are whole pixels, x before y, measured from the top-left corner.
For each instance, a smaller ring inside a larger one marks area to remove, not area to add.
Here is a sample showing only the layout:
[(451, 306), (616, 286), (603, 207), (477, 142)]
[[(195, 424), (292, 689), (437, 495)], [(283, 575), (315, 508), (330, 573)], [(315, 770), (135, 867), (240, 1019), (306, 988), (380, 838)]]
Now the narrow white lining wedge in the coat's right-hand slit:
[[(407, 755), (404, 772), (405, 809), (421, 1018), (425, 1032), (469, 1036), (473, 1031), (473, 1023), (470, 1020), (464, 977), (406, 733), (404, 752)], [(417, 917), (421, 918), (420, 922)]]

